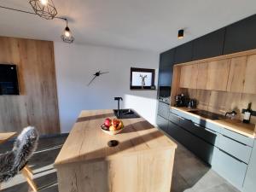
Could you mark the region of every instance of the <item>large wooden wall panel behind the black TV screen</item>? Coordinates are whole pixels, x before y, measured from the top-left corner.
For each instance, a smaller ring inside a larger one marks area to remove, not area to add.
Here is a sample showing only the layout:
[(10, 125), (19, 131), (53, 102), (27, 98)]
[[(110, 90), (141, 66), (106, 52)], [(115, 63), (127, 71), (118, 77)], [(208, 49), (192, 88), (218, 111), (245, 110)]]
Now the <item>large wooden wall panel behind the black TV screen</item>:
[(0, 132), (60, 132), (53, 42), (0, 37), (0, 63), (18, 67), (20, 96), (0, 96)]

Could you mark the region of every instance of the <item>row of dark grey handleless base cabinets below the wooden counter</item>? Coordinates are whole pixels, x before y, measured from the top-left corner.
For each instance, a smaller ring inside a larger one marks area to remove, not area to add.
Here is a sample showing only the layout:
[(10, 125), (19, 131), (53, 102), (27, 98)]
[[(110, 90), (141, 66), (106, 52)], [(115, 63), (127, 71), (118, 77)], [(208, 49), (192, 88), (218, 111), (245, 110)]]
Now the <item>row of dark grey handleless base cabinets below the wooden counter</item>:
[(209, 164), (237, 189), (255, 191), (256, 146), (253, 138), (218, 125), (198, 122), (198, 119), (172, 109), (165, 116), (169, 118), (157, 116), (160, 129)]

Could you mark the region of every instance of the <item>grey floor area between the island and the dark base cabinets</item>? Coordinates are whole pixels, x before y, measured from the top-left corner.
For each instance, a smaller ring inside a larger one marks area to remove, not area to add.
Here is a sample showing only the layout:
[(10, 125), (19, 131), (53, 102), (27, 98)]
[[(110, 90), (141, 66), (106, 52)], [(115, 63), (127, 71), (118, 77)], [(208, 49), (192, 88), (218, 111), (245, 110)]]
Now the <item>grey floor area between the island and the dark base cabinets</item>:
[(171, 192), (238, 192), (205, 163), (178, 144)]

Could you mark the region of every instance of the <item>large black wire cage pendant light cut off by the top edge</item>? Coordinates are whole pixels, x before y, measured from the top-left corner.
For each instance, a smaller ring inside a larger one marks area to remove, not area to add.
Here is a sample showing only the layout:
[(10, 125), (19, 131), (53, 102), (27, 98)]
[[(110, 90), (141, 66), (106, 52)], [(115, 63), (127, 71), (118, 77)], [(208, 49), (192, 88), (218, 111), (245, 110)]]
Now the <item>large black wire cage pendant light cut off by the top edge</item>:
[(29, 0), (34, 12), (46, 20), (52, 20), (57, 15), (57, 10), (52, 0)]

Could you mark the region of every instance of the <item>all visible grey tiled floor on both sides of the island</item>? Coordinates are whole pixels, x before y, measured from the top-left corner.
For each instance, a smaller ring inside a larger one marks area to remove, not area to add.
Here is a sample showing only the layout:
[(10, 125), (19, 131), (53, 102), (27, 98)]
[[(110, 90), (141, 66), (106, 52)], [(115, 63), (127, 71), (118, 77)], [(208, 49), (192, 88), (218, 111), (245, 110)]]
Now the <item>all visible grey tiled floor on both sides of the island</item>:
[[(38, 150), (29, 162), (29, 166), (35, 173), (35, 182), (38, 184), (40, 192), (58, 192), (53, 162), (65, 139), (66, 136), (41, 138)], [(12, 143), (0, 145), (0, 153), (11, 148)], [(8, 183), (2, 183), (2, 189), (1, 192), (30, 191), (26, 180), (21, 175), (16, 176)], [(238, 190), (209, 169), (194, 154), (191, 154), (182, 145), (178, 145), (171, 192), (238, 192)]]

